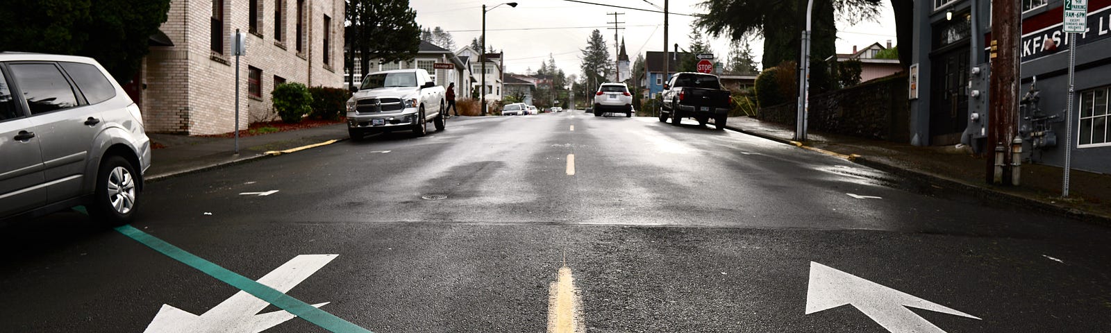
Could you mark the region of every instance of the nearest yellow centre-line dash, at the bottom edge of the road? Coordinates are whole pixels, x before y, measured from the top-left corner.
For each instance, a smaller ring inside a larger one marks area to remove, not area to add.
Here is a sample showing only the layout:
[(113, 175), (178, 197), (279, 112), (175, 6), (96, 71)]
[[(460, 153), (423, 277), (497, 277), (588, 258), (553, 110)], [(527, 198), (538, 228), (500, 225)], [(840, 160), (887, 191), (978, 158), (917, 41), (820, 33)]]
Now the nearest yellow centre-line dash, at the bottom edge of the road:
[(581, 333), (585, 332), (582, 320), (582, 300), (574, 289), (574, 276), (571, 269), (559, 269), (559, 280), (548, 286), (548, 332)]

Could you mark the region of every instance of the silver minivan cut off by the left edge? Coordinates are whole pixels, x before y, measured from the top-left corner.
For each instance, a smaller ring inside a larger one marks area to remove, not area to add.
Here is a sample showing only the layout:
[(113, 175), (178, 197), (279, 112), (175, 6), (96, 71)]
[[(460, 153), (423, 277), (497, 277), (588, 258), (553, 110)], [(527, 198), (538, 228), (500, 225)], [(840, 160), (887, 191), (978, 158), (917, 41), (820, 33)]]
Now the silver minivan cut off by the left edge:
[(139, 107), (96, 60), (0, 52), (0, 220), (84, 205), (128, 223), (150, 158)]

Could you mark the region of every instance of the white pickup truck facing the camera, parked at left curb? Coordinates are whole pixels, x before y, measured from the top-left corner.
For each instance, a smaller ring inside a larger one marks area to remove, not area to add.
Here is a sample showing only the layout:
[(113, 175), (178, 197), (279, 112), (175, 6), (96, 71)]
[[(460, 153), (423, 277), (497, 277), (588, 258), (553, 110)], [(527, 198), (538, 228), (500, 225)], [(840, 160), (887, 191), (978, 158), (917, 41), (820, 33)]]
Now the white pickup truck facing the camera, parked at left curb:
[(348, 134), (361, 140), (368, 133), (412, 130), (423, 137), (428, 122), (443, 131), (443, 92), (422, 69), (370, 73), (347, 102)]

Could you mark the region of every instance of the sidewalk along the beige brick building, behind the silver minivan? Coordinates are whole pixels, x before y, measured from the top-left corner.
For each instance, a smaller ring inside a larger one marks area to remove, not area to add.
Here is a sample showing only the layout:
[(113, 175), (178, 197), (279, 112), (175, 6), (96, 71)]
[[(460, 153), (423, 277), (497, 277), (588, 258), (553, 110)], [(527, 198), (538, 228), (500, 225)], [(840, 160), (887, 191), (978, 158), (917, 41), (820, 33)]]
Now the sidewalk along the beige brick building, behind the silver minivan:
[(337, 123), (296, 131), (286, 131), (239, 138), (236, 154), (234, 138), (204, 138), (182, 134), (147, 133), (153, 143), (164, 148), (151, 150), (151, 167), (147, 180), (204, 170), (218, 165), (239, 163), (268, 157), (268, 151), (280, 151), (329, 140), (347, 140), (347, 124)]

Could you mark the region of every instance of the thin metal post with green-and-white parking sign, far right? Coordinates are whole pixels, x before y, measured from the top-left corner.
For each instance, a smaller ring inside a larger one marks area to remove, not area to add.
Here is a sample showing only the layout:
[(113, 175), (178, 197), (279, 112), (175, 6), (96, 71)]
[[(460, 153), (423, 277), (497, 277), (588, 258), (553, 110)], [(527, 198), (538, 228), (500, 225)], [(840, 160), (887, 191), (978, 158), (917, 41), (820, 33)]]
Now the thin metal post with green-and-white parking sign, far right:
[(1088, 30), (1088, 0), (1064, 0), (1061, 30), (1069, 41), (1069, 97), (1064, 111), (1064, 175), (1061, 178), (1061, 198), (1069, 198), (1069, 171), (1072, 169), (1072, 97), (1077, 74), (1077, 33)]

